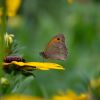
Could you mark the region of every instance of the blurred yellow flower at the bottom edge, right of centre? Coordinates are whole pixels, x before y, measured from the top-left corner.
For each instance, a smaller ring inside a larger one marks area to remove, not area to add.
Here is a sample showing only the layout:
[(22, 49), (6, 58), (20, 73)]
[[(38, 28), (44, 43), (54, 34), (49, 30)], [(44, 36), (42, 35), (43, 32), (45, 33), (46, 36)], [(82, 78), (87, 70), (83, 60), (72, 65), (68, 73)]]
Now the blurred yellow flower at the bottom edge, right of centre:
[(52, 100), (89, 100), (87, 94), (77, 95), (75, 92), (69, 91), (67, 94), (53, 96)]

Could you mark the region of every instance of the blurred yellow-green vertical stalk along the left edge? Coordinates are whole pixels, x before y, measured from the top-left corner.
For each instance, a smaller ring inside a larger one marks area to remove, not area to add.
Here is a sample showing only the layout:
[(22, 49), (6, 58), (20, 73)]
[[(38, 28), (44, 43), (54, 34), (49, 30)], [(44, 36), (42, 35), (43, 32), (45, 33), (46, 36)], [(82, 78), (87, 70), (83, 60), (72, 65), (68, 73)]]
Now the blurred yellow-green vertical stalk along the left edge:
[[(4, 50), (5, 50), (5, 45), (4, 45), (4, 34), (6, 33), (6, 5), (5, 5), (5, 0), (0, 0), (0, 7), (2, 8), (2, 13), (3, 15), (0, 17), (1, 18), (1, 23), (0, 23), (0, 80), (1, 77), (3, 77), (4, 71), (3, 71), (3, 57), (4, 57)], [(2, 85), (0, 84), (0, 97), (4, 94), (4, 89)]]

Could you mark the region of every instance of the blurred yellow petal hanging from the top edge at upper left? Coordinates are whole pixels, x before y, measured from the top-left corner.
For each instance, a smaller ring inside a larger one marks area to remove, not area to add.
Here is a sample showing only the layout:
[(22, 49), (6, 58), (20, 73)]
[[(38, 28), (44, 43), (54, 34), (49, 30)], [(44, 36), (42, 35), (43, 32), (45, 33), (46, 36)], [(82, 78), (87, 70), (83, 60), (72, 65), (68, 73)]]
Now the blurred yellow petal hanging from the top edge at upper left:
[(6, 0), (7, 15), (9, 17), (15, 16), (20, 7), (21, 0)]

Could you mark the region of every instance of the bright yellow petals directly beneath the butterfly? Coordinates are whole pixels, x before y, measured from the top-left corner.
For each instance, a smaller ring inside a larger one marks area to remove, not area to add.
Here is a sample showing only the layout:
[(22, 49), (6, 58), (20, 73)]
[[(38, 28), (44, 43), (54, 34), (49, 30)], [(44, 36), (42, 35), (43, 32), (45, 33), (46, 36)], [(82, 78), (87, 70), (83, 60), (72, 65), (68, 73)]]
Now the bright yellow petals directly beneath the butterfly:
[(49, 70), (49, 69), (60, 69), (64, 70), (64, 68), (56, 63), (49, 63), (49, 62), (17, 62), (12, 61), (11, 63), (4, 63), (5, 66), (7, 65), (17, 65), (17, 68), (24, 69), (24, 70)]

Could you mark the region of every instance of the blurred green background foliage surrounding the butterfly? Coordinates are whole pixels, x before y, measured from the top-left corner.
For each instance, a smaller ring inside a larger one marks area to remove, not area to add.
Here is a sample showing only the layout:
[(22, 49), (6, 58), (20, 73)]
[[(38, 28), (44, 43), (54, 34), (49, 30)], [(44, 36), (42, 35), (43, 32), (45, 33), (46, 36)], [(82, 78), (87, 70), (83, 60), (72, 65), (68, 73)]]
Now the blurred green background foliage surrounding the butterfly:
[(34, 71), (36, 78), (22, 80), (13, 92), (45, 98), (60, 91), (86, 92), (89, 80), (100, 75), (99, 9), (99, 0), (23, 0), (8, 20), (7, 32), (24, 46), (24, 58), (42, 62), (39, 52), (57, 33), (65, 35), (68, 57), (49, 61), (63, 65), (64, 71)]

